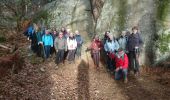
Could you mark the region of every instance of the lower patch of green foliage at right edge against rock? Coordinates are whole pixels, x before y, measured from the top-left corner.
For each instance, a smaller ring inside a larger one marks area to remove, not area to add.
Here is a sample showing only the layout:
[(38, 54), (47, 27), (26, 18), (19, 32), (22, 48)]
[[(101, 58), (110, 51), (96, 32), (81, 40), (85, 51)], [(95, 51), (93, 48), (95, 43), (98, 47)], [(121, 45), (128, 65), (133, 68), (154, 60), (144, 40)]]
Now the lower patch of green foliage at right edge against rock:
[(161, 53), (164, 54), (164, 53), (170, 51), (169, 43), (170, 43), (170, 32), (169, 32), (169, 34), (162, 33), (159, 36), (159, 39), (157, 41), (158, 48)]

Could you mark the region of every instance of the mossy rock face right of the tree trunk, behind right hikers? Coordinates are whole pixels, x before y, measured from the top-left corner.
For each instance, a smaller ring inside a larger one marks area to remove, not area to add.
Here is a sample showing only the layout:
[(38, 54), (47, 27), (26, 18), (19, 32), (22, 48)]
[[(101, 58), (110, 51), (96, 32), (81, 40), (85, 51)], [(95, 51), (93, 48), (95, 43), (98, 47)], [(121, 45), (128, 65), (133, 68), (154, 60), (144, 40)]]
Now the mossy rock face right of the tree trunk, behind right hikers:
[[(159, 7), (160, 3), (163, 3), (162, 6), (168, 3), (165, 13), (161, 13), (165, 14), (163, 20), (157, 18), (159, 9), (163, 8)], [(166, 3), (156, 0), (106, 0), (95, 30), (99, 34), (104, 34), (105, 31), (110, 30), (115, 36), (118, 36), (122, 30), (131, 31), (133, 26), (139, 26), (144, 41), (140, 63), (153, 64), (160, 57), (163, 57), (163, 53), (160, 53), (159, 50), (160, 46), (157, 46), (160, 37), (159, 31), (162, 30), (161, 32), (164, 33), (170, 28), (167, 24), (170, 23), (168, 9), (170, 0), (167, 0)], [(166, 51), (165, 55), (168, 53)]]

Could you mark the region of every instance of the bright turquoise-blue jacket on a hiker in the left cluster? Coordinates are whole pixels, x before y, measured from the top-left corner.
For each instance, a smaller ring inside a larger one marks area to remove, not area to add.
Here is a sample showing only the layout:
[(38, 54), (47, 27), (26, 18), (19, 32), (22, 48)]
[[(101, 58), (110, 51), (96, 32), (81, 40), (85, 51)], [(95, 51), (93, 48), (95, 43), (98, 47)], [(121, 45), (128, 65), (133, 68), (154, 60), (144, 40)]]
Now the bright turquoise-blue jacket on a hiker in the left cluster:
[(42, 37), (42, 42), (44, 46), (51, 46), (53, 47), (53, 37), (50, 34), (45, 34)]

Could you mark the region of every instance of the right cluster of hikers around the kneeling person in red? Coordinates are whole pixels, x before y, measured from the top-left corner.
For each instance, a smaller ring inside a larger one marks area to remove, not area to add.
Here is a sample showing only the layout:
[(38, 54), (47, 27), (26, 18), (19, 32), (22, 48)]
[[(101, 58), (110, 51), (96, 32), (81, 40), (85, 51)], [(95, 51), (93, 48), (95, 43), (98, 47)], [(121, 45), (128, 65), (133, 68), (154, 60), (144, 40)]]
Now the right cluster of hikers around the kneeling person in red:
[[(137, 26), (132, 28), (132, 32), (122, 31), (118, 38), (115, 38), (110, 31), (106, 31), (103, 40), (97, 35), (94, 36), (91, 46), (92, 58), (96, 68), (99, 67), (100, 55), (106, 57), (107, 69), (114, 75), (116, 80), (124, 78), (127, 83), (127, 74), (133, 71), (135, 76), (139, 76), (139, 54), (143, 41)], [(102, 53), (104, 52), (104, 53)]]

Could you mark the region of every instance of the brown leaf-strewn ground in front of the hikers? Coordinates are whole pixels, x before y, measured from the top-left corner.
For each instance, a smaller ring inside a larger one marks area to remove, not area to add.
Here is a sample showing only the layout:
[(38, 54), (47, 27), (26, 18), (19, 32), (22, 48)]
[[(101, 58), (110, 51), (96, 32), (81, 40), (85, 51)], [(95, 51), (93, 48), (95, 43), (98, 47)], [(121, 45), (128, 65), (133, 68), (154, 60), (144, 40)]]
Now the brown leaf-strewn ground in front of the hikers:
[[(23, 40), (21, 40), (23, 41)], [(74, 64), (55, 68), (55, 56), (47, 61), (30, 53), (28, 42), (20, 45), (24, 66), (17, 73), (0, 77), (1, 100), (169, 100), (170, 69), (142, 68), (128, 83), (115, 81), (105, 64), (93, 65), (89, 52)], [(1, 73), (2, 74), (2, 73)]]

